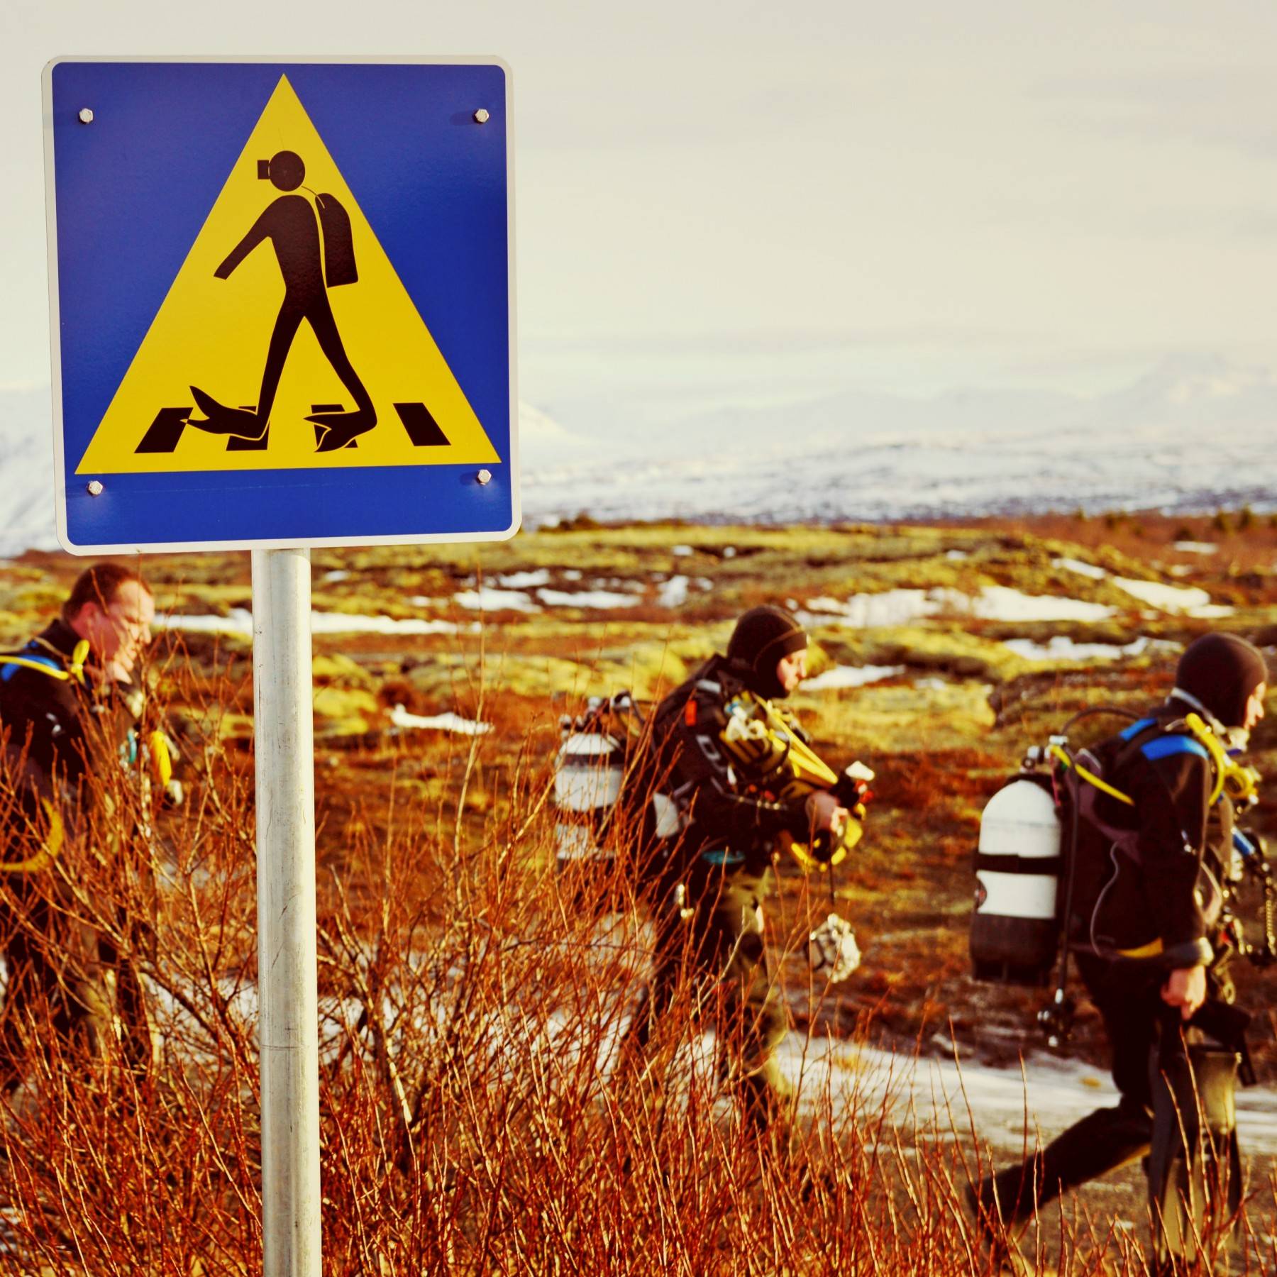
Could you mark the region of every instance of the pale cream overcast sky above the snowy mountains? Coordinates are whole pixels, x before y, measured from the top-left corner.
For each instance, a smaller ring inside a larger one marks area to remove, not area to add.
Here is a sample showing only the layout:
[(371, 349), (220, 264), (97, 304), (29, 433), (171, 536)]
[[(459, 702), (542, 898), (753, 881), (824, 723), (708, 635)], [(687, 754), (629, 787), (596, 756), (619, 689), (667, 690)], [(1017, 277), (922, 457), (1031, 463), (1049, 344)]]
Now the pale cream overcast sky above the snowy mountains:
[(497, 54), (520, 395), (568, 418), (1277, 364), (1271, 3), (0, 6), (0, 387), (49, 381), (40, 72)]

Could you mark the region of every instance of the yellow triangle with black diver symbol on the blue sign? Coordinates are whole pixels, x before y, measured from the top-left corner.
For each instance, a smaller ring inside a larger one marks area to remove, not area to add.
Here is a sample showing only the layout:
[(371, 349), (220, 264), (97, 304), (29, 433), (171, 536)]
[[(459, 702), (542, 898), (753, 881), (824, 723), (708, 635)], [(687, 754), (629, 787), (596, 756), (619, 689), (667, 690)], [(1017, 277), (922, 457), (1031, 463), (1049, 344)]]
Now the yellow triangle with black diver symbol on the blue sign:
[(499, 460), (281, 75), (77, 474)]

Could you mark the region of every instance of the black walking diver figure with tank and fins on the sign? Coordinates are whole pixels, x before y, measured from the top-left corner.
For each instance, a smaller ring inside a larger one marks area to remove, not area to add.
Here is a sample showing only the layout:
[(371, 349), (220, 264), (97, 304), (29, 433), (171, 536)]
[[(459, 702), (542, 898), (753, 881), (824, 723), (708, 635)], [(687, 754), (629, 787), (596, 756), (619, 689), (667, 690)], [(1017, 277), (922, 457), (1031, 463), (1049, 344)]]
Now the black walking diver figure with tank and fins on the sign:
[(262, 389), (255, 409), (234, 409), (218, 404), (212, 395), (192, 386), (190, 393), (204, 418), (188, 419), (186, 424), (208, 434), (231, 435), (264, 447), (283, 364), (301, 321), (306, 319), (324, 358), (355, 398), (354, 411), (317, 412), (306, 418), (319, 428), (315, 451), (336, 452), (377, 425), (372, 397), (346, 355), (328, 301), (328, 289), (355, 283), (359, 278), (350, 217), (336, 197), (317, 194), (319, 221), (315, 223), (310, 200), (305, 195), (291, 194), (306, 175), (301, 157), (292, 151), (280, 151), (268, 161), (258, 161), (257, 175), (269, 180), (285, 194), (263, 211), (213, 273), (218, 280), (230, 278), (231, 272), (262, 240), (271, 240), (275, 248), (280, 273), (283, 276), (283, 301), (271, 333)]

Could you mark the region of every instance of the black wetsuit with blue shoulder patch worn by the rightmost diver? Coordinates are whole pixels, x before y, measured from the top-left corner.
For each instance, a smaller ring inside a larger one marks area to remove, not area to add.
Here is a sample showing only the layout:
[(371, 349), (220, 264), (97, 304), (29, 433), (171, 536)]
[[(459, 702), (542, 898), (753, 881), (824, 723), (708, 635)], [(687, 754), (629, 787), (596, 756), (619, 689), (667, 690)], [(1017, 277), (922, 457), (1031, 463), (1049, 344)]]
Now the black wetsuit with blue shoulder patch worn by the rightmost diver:
[[(996, 1185), (1004, 1220), (1025, 1218), (1062, 1190), (1144, 1157), (1162, 1075), (1177, 1068), (1185, 1041), (1205, 1038), (1197, 1025), (1209, 1024), (1232, 1001), (1231, 981), (1211, 944), (1232, 806), (1225, 796), (1209, 806), (1214, 773), (1205, 748), (1184, 734), (1185, 709), (1172, 701), (1143, 727), (1128, 729), (1126, 739), (1094, 751), (1110, 764), (1125, 760), (1105, 778), (1134, 807), (1101, 794), (1094, 810), (1130, 836), (1115, 847), (1112, 836), (1083, 829), (1070, 933), (1078, 971), (1103, 1018), (1120, 1102), (1083, 1117), (1023, 1166), (985, 1181), (985, 1205), (992, 1208)], [(1119, 950), (1144, 956), (1131, 960)], [(1207, 1002), (1181, 1033), (1180, 1011), (1163, 1002), (1161, 990), (1170, 971), (1195, 965), (1211, 967)]]

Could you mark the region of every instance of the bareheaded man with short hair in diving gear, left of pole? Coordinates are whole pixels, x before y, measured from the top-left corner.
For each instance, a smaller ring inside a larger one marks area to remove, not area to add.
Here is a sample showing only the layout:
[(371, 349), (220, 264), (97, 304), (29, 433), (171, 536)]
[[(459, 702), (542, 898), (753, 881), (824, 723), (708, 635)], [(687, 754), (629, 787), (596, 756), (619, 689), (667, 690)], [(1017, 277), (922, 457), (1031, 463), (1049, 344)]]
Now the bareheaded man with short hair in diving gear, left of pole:
[[(123, 875), (144, 820), (147, 764), (157, 773), (171, 766), (167, 738), (143, 725), (135, 682), (153, 618), (135, 568), (97, 563), (80, 573), (60, 617), (0, 655), (0, 950), (9, 971), (0, 1096), (32, 1071), (29, 1052), (49, 1032), (66, 1060), (102, 1057), (112, 1034), (132, 1066), (151, 1059), (140, 981), (106, 933), (139, 942), (147, 921), (87, 916), (65, 862), (79, 839)], [(135, 785), (105, 783), (121, 770)], [(163, 779), (179, 803), (180, 787)], [(137, 808), (119, 806), (125, 790)]]

